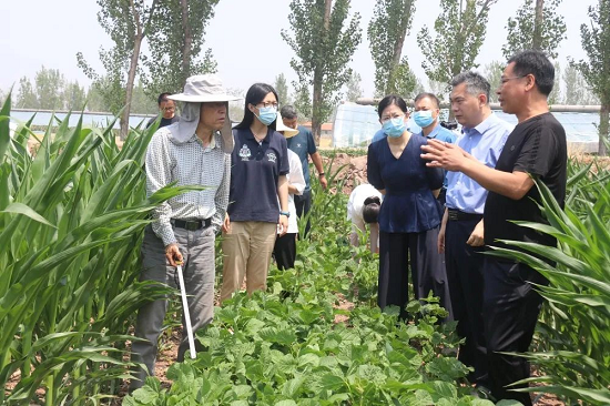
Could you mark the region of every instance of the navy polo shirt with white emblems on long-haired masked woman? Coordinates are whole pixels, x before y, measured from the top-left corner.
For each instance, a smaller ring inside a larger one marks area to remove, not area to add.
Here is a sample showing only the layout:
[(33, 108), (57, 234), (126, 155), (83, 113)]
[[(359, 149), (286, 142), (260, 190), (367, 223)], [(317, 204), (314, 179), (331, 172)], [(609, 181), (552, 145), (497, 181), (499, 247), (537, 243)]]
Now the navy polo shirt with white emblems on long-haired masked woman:
[(231, 221), (277, 223), (277, 180), (291, 171), (286, 139), (272, 129), (261, 143), (250, 129), (234, 129), (233, 136), (227, 209)]

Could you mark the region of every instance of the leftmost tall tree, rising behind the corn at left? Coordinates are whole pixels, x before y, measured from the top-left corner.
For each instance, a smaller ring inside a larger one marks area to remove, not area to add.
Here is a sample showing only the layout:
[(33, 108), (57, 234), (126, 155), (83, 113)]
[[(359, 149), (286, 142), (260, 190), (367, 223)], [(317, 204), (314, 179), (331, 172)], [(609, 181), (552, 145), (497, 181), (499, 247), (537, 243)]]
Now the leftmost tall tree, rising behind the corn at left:
[(129, 130), (129, 114), (135, 77), (139, 70), (141, 49), (160, 0), (96, 0), (100, 11), (98, 21), (114, 42), (109, 50), (100, 49), (99, 55), (105, 73), (95, 72), (81, 52), (77, 53), (79, 67), (94, 82), (104, 98), (108, 110), (121, 115), (121, 138)]

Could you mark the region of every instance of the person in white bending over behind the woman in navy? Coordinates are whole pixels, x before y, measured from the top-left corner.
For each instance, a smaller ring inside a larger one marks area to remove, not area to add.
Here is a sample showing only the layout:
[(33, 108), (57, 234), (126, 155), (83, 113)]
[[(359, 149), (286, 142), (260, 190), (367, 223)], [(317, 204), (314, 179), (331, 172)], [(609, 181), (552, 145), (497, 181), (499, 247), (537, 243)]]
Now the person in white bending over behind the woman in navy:
[(359, 234), (366, 234), (366, 224), (370, 227), (370, 252), (379, 252), (379, 225), (377, 217), (382, 206), (382, 193), (368, 183), (356, 186), (347, 201), (347, 220), (352, 221), (349, 242), (359, 245)]

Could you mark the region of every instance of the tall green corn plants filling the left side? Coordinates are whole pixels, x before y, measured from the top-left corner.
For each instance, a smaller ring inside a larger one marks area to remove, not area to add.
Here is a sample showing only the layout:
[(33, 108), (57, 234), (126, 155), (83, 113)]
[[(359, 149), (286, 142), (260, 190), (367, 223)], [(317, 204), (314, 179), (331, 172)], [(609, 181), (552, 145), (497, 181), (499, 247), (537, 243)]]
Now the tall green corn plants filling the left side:
[(114, 122), (51, 119), (31, 155), (35, 134), (26, 123), (11, 138), (9, 116), (10, 95), (0, 110), (0, 404), (98, 404), (129, 377), (133, 313), (170, 292), (138, 282), (139, 247), (151, 210), (183, 189), (145, 199), (154, 129), (119, 149)]

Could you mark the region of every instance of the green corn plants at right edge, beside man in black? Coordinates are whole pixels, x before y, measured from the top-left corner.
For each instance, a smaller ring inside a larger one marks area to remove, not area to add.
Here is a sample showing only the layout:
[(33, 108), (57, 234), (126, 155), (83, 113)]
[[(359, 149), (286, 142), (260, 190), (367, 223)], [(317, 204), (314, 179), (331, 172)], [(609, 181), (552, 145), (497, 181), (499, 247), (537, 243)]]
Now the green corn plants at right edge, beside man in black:
[[(520, 390), (553, 393), (568, 403), (610, 404), (610, 172), (599, 162), (569, 164), (568, 197), (561, 210), (537, 183), (548, 225), (521, 222), (553, 235), (557, 247), (507, 242), (528, 253), (497, 250), (545, 275), (538, 286), (547, 300), (538, 326), (538, 352), (525, 354), (545, 376), (543, 387)], [(535, 256), (536, 255), (536, 256)], [(542, 261), (540, 258), (549, 261)]]

